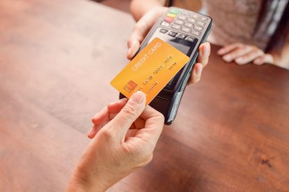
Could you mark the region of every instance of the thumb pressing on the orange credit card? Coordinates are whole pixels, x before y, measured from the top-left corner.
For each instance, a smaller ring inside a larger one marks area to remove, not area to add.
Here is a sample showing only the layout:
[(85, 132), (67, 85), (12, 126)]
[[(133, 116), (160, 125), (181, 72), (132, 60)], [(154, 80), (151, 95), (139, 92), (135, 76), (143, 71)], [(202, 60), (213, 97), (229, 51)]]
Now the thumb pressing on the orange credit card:
[(118, 131), (121, 138), (125, 137), (127, 130), (141, 115), (146, 105), (146, 95), (142, 91), (134, 93), (116, 117), (109, 122), (110, 127)]

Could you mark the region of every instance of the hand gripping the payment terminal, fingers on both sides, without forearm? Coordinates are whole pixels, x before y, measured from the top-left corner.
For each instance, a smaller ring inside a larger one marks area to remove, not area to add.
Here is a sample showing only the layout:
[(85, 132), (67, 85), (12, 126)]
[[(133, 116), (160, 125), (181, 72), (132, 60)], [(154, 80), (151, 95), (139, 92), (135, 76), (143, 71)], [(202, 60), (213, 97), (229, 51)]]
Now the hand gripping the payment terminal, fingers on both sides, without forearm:
[[(139, 51), (141, 42), (143, 42), (150, 28), (153, 27), (157, 19), (161, 17), (167, 9), (168, 8), (162, 6), (153, 8), (152, 10), (146, 12), (146, 14), (143, 15), (143, 17), (141, 17), (141, 19), (136, 22), (136, 25), (132, 30), (132, 34), (130, 35), (127, 42), (127, 58), (129, 60), (131, 60), (136, 54), (136, 52)], [(208, 64), (209, 56), (210, 43), (205, 42), (201, 44), (201, 46), (199, 46), (197, 63), (194, 64), (194, 69), (191, 77), (189, 78), (188, 85), (198, 82), (201, 79), (203, 68)]]

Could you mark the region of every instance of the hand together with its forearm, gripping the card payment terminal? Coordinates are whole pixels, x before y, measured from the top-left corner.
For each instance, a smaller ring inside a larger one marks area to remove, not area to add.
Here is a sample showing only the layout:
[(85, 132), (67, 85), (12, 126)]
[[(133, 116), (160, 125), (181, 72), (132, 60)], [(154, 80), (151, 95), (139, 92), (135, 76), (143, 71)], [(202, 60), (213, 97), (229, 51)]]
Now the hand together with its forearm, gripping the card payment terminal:
[[(130, 9), (136, 25), (132, 30), (132, 34), (127, 41), (127, 58), (132, 59), (137, 51), (141, 42), (148, 34), (150, 28), (153, 27), (157, 18), (161, 17), (168, 8), (164, 7), (164, 1), (157, 0), (132, 0)], [(210, 43), (205, 42), (199, 47), (199, 55), (197, 63), (194, 64), (192, 75), (189, 78), (188, 84), (198, 82), (201, 79), (203, 68), (208, 64), (210, 56)]]

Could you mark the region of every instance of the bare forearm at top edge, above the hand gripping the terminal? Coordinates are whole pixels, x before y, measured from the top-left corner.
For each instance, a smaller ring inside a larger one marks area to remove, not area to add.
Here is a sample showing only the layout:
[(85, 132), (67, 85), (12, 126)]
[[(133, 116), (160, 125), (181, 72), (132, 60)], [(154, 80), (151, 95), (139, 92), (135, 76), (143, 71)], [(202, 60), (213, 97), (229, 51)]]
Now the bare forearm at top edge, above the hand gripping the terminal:
[(165, 1), (159, 0), (132, 0), (130, 3), (130, 12), (136, 21), (139, 21), (143, 15), (153, 8), (164, 6)]

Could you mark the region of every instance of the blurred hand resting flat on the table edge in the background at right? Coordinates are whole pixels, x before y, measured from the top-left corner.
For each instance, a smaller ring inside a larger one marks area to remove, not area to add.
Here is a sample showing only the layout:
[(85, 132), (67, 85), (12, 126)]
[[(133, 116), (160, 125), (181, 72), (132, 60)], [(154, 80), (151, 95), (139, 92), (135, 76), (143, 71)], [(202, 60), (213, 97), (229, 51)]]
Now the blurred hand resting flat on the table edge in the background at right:
[(228, 44), (217, 51), (226, 62), (235, 61), (237, 64), (274, 64), (274, 58), (269, 53), (264, 53), (257, 46), (248, 44)]

